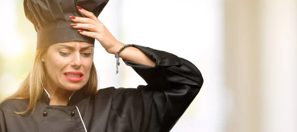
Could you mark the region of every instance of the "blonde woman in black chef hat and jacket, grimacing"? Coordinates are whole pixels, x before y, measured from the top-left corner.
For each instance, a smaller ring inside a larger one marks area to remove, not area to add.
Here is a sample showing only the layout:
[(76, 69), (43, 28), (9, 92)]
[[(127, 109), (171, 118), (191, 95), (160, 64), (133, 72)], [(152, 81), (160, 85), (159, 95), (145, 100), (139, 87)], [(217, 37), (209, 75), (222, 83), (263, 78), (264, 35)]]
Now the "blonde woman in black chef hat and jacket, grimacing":
[[(37, 51), (19, 90), (0, 104), (0, 132), (172, 129), (203, 84), (198, 68), (173, 54), (117, 41), (98, 20), (107, 2), (24, 1), (25, 14), (38, 33)], [(98, 91), (95, 39), (148, 85)]]

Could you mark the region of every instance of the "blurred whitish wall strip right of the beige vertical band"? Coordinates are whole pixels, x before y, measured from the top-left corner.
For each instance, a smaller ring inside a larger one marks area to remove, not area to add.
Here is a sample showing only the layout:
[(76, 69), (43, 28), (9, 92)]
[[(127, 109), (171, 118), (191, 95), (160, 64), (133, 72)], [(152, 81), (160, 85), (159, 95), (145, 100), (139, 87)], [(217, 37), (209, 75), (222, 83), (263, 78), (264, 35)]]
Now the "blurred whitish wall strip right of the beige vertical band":
[(297, 132), (297, 0), (263, 0), (262, 132)]

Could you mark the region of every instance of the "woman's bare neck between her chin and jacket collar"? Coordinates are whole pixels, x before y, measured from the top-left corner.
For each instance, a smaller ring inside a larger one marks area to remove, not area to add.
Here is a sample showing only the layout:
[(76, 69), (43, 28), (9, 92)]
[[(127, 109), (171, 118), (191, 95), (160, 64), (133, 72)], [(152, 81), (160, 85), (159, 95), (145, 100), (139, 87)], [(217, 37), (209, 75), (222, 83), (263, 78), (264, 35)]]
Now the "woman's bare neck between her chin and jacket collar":
[(50, 96), (49, 105), (63, 105), (66, 106), (69, 100), (69, 97), (73, 94), (74, 91), (68, 91), (58, 87), (51, 87), (47, 85), (45, 88)]

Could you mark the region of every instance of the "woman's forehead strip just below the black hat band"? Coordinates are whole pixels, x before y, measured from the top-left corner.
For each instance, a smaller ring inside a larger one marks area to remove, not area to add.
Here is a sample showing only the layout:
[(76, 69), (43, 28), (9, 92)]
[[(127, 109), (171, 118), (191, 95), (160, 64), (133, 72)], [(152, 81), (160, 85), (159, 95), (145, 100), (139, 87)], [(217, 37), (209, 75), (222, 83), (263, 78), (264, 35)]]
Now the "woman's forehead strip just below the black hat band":
[(59, 42), (51, 45), (53, 47), (72, 47), (72, 48), (84, 48), (84, 47), (94, 47), (94, 44), (85, 41), (67, 41)]

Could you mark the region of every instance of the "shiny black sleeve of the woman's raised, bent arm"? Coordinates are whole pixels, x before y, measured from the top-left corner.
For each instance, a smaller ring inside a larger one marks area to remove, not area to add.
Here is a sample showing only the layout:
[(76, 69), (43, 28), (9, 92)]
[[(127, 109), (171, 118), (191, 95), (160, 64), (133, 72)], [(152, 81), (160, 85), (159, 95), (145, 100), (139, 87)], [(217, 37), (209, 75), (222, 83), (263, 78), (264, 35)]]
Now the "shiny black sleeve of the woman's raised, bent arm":
[[(201, 73), (191, 62), (171, 53), (133, 46), (156, 62), (150, 67), (123, 60), (148, 84), (138, 86), (144, 111), (141, 120), (145, 120), (141, 129), (155, 130), (152, 127), (158, 127), (159, 132), (169, 132), (197, 96), (203, 84)], [(130, 95), (134, 96), (133, 93), (138, 92), (130, 92)]]

